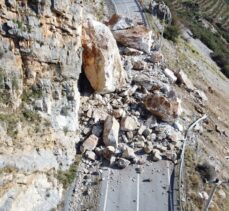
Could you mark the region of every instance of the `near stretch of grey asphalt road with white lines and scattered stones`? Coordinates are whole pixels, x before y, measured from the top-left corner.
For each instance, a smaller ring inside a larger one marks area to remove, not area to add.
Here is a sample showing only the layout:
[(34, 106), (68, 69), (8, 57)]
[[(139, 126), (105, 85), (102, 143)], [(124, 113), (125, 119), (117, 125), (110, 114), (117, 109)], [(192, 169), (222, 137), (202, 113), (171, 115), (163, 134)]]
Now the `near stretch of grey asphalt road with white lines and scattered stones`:
[(99, 211), (174, 210), (170, 191), (173, 165), (168, 161), (147, 161), (140, 166), (141, 174), (136, 172), (136, 167), (103, 171)]

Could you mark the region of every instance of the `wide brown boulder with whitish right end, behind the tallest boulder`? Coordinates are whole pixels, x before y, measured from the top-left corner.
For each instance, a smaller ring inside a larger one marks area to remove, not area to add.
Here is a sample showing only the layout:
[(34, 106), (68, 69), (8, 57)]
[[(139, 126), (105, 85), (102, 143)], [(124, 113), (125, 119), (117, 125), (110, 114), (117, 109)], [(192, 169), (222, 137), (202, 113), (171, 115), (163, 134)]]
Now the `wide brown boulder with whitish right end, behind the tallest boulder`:
[(150, 53), (152, 40), (152, 30), (143, 25), (137, 25), (130, 29), (114, 31), (113, 35), (118, 43), (134, 48), (145, 53)]

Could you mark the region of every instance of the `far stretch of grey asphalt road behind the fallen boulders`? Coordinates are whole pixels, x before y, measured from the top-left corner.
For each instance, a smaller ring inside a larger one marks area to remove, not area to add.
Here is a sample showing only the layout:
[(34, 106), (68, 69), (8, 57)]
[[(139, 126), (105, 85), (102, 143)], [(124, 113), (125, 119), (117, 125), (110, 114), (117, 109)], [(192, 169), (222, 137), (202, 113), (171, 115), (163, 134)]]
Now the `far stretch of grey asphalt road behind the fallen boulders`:
[(112, 0), (116, 13), (145, 24), (145, 19), (136, 0)]

